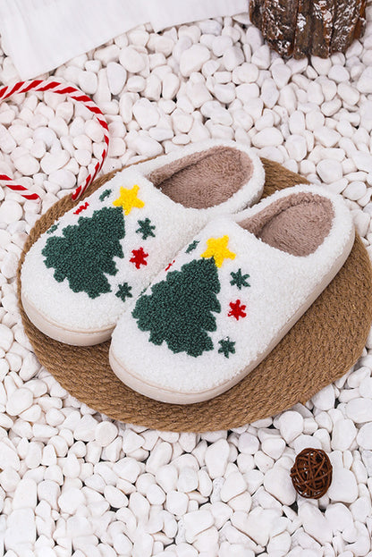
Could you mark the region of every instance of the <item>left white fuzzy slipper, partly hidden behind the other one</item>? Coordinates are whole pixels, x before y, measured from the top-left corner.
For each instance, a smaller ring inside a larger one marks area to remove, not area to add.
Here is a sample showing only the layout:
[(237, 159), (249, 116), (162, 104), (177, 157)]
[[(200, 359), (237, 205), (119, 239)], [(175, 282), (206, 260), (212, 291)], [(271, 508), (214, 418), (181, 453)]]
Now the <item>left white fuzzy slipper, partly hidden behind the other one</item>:
[(264, 181), (249, 148), (218, 140), (116, 173), (27, 253), (21, 300), (30, 321), (60, 342), (106, 341), (128, 300), (211, 218), (257, 201)]

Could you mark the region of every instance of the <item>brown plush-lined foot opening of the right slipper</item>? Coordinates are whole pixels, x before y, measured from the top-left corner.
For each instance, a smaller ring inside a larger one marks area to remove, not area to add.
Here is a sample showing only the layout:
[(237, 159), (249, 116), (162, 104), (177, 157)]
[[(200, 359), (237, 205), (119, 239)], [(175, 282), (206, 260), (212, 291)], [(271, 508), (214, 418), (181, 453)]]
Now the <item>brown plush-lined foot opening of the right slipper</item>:
[(333, 220), (330, 199), (303, 192), (277, 199), (240, 225), (273, 248), (306, 257), (325, 241)]

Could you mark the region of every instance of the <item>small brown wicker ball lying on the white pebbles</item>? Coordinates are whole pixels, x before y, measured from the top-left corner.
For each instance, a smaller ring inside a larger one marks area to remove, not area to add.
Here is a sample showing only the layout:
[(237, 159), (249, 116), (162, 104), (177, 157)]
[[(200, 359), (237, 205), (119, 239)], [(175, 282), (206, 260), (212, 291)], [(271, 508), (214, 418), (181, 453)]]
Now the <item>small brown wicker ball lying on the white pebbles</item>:
[(319, 499), (332, 482), (332, 464), (321, 449), (301, 451), (291, 469), (294, 489), (306, 499)]

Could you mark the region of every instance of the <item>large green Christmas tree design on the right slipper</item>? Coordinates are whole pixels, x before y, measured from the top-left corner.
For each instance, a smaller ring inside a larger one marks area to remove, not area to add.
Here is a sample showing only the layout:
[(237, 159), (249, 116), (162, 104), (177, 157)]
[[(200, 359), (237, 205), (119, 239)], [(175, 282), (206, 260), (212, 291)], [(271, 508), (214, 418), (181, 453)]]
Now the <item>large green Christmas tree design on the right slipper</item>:
[(201, 258), (171, 271), (151, 294), (139, 298), (132, 316), (141, 331), (150, 331), (150, 342), (166, 342), (174, 353), (186, 352), (196, 358), (213, 350), (207, 331), (216, 331), (216, 317), (221, 306), (220, 291), (213, 257)]

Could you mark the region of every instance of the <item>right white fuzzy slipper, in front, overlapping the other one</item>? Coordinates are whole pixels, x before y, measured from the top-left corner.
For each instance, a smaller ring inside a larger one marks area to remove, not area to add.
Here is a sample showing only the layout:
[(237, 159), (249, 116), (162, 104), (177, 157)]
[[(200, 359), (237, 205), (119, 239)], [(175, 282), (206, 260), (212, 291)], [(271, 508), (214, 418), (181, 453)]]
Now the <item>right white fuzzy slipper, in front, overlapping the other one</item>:
[(216, 218), (119, 319), (114, 373), (165, 402), (226, 391), (316, 300), (353, 241), (348, 207), (321, 187), (277, 191), (240, 215)]

